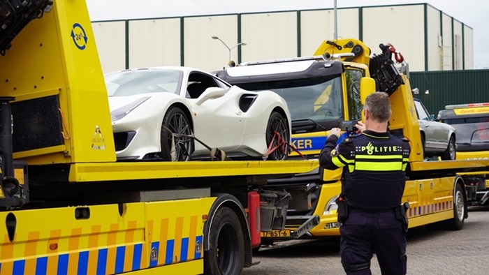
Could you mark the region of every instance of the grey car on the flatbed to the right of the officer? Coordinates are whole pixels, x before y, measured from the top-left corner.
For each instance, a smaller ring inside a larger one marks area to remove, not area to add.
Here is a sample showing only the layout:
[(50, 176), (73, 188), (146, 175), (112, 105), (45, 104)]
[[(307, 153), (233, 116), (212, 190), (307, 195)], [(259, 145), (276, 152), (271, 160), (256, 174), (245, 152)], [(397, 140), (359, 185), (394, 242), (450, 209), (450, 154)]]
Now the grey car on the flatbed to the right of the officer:
[(455, 160), (455, 128), (433, 121), (435, 116), (426, 110), (418, 98), (414, 98), (414, 105), (418, 114), (424, 156), (439, 156), (442, 160)]

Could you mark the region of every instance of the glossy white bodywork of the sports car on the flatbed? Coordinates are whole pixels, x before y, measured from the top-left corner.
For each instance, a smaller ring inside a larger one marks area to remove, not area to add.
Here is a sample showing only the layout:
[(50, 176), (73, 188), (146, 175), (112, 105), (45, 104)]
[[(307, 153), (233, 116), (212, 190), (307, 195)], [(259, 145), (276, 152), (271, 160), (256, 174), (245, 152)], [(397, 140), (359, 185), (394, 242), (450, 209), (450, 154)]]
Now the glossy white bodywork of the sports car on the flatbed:
[[(238, 152), (247, 156), (261, 157), (267, 151), (265, 132), (268, 119), (276, 107), (286, 114), (289, 124), (289, 137), (291, 136), (291, 117), (286, 102), (282, 97), (272, 91), (245, 91), (239, 87), (228, 88), (224, 96), (210, 98), (200, 105), (196, 103), (199, 98), (186, 98), (187, 84), (190, 73), (197, 72), (209, 75), (201, 70), (186, 67), (159, 67), (145, 70), (159, 69), (182, 70), (182, 84), (177, 94), (170, 92), (154, 92), (137, 94), (134, 96), (109, 96), (111, 112), (123, 107), (139, 98), (149, 98), (134, 108), (129, 114), (117, 121), (112, 121), (114, 133), (136, 131), (136, 135), (129, 145), (116, 151), (117, 158), (135, 157), (143, 158), (147, 154), (161, 151), (161, 124), (168, 108), (178, 104), (180, 108), (188, 110), (188, 117), (193, 124), (193, 133), (209, 147), (217, 147), (228, 153)], [(131, 70), (125, 70), (128, 72)], [(122, 72), (122, 73), (123, 73)], [(210, 75), (212, 76), (212, 75)], [(215, 78), (215, 77), (214, 77)], [(222, 80), (221, 80), (222, 81)], [(223, 81), (223, 83), (225, 83)], [(227, 83), (225, 83), (228, 85)], [(247, 112), (239, 107), (240, 97), (244, 94), (256, 95), (257, 98)], [(287, 140), (290, 142), (290, 140)], [(193, 156), (208, 156), (210, 151), (194, 142)]]

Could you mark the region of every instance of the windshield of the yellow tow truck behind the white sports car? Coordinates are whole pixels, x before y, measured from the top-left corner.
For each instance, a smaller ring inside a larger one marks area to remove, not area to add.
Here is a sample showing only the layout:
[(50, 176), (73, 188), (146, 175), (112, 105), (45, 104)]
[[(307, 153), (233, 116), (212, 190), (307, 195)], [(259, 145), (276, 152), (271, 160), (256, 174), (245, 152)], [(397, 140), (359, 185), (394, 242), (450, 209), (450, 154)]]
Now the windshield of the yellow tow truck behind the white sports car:
[(342, 117), (342, 82), (340, 77), (314, 77), (306, 80), (283, 80), (240, 84), (251, 91), (271, 90), (287, 102), (292, 120), (324, 121)]

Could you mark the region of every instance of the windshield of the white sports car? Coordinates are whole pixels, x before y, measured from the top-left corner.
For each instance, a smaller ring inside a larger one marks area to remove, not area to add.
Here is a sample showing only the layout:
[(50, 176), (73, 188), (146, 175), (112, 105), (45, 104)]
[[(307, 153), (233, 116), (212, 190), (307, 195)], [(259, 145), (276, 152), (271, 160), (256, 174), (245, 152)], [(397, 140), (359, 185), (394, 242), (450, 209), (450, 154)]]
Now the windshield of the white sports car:
[(133, 96), (147, 93), (179, 94), (181, 70), (124, 70), (105, 75), (108, 96)]

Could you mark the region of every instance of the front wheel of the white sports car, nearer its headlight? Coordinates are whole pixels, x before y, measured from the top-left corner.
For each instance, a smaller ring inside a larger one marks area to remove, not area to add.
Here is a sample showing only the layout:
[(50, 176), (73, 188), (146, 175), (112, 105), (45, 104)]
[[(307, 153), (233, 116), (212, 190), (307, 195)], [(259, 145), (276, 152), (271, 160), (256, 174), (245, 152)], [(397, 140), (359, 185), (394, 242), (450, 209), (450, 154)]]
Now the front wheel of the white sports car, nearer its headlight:
[[(168, 108), (163, 118), (163, 126), (171, 133), (192, 134), (189, 119), (179, 107)], [(161, 126), (161, 158), (164, 161), (190, 161), (194, 151), (194, 140), (191, 137), (173, 137), (172, 139), (172, 134), (163, 126)]]

